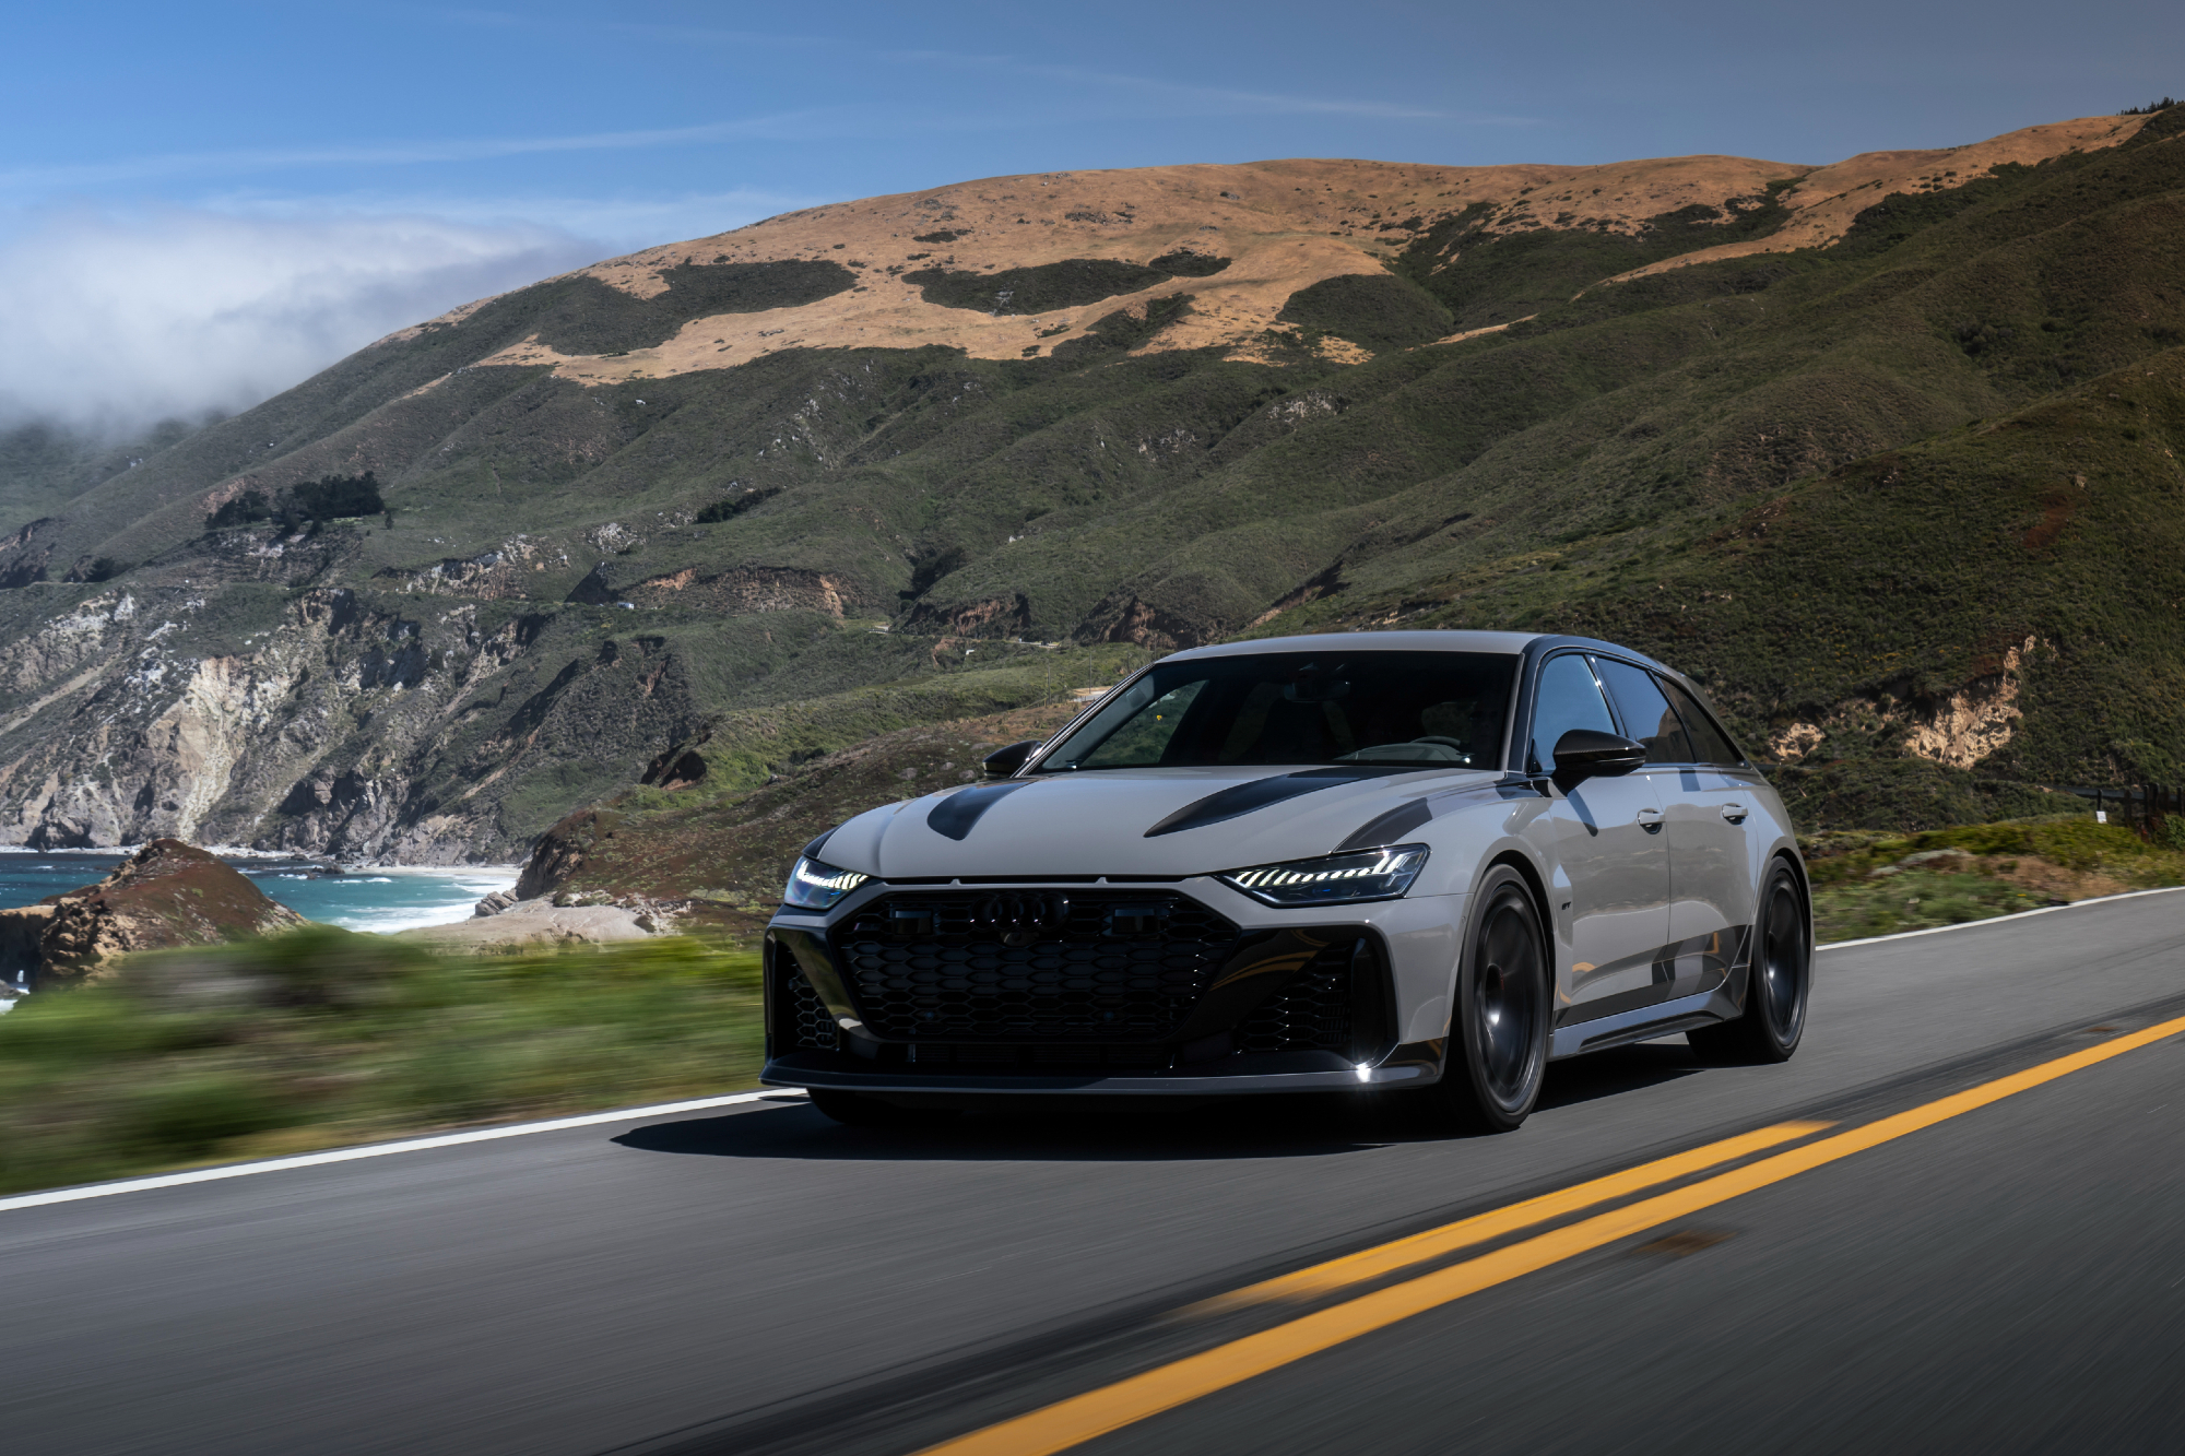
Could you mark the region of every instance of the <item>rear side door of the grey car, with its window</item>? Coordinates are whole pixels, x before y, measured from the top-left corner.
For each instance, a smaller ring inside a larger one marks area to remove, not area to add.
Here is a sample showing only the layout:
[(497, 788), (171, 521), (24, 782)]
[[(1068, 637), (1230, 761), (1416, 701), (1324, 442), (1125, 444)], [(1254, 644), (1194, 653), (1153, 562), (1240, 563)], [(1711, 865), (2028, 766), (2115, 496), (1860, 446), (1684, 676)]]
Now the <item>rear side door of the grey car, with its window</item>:
[(1669, 818), (1672, 995), (1728, 979), (1752, 927), (1752, 861), (1746, 850), (1750, 774), (1713, 719), (1676, 682), (1604, 662), (1626, 721), (1658, 724), (1661, 761), (1647, 754)]

